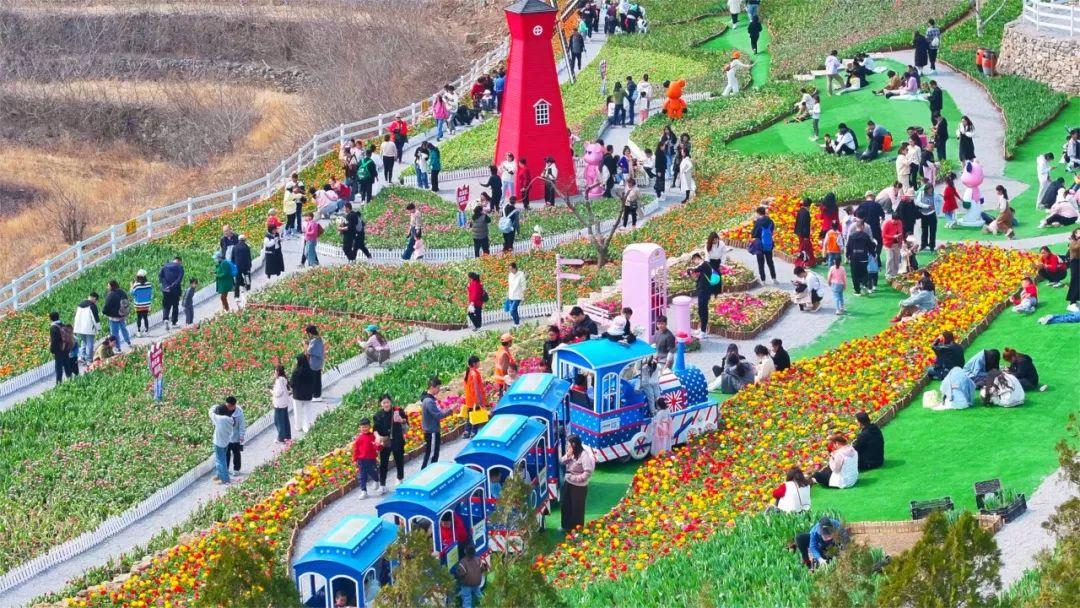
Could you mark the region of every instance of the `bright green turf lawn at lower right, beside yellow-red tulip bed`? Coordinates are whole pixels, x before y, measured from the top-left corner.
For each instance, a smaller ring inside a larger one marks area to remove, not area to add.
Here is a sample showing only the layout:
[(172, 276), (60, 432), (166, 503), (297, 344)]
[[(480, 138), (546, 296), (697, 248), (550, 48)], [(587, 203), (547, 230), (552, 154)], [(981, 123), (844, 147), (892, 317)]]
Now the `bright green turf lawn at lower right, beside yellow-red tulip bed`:
[(975, 405), (933, 411), (916, 400), (882, 429), (885, 467), (861, 473), (850, 489), (815, 488), (814, 509), (835, 509), (852, 522), (901, 521), (910, 517), (909, 501), (948, 496), (958, 509), (974, 510), (974, 483), (991, 478), (1030, 497), (1057, 468), (1054, 445), (1080, 394), (1076, 340), (1069, 338), (1076, 327), (1037, 322), (1062, 311), (1064, 294), (1044, 284), (1040, 292), (1044, 301), (1038, 312), (1007, 310), (966, 352), (1020, 347), (1035, 360), (1040, 380), (1050, 386), (1047, 392), (1029, 392), (1024, 405), (1008, 409)]

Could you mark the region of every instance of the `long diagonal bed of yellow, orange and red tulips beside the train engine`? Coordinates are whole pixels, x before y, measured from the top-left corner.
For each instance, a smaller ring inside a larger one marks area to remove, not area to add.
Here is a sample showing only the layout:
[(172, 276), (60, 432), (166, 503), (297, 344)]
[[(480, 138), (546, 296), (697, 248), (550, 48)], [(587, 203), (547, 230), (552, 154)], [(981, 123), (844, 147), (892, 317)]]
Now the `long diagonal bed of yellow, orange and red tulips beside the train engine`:
[[(978, 245), (944, 249), (930, 267), (937, 285), (957, 295), (909, 323), (847, 342), (800, 362), (724, 404), (726, 428), (686, 448), (647, 461), (625, 498), (606, 516), (571, 532), (539, 560), (558, 586), (584, 586), (644, 568), (662, 539), (675, 552), (757, 512), (788, 467), (812, 470), (831, 431), (852, 434), (853, 414), (873, 417), (906, 405), (926, 381), (930, 344), (945, 329), (960, 336), (985, 327), (1007, 287), (1030, 272), (1025, 253)], [(1011, 287), (1008, 287), (1011, 288)]]

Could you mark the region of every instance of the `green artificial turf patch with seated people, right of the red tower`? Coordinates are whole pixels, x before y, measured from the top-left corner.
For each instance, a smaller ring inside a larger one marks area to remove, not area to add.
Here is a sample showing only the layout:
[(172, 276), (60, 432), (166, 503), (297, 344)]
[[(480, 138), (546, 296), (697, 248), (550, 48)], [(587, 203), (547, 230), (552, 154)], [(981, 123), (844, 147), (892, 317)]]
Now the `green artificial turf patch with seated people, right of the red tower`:
[[(738, 30), (737, 30), (738, 31)], [(888, 66), (889, 69), (903, 71), (904, 67), (896, 62), (879, 60), (878, 65)], [(894, 139), (895, 146), (906, 139), (905, 130), (912, 125), (923, 126), (928, 134), (930, 131), (930, 106), (926, 102), (900, 102), (886, 99), (881, 95), (874, 95), (872, 91), (881, 89), (887, 80), (885, 72), (875, 73), (869, 77), (869, 86), (861, 91), (845, 93), (843, 95), (827, 94), (824, 78), (818, 78), (813, 85), (821, 92), (821, 134), (836, 133), (836, 125), (847, 123), (855, 137), (860, 147), (866, 146), (866, 121), (873, 120), (885, 125)], [(807, 83), (809, 84), (809, 83)], [(945, 119), (948, 120), (949, 129), (955, 130), (955, 125), (960, 122), (960, 111), (945, 91)], [(821, 140), (810, 140), (811, 126), (809, 122), (787, 123), (780, 122), (764, 131), (740, 137), (729, 146), (747, 154), (786, 154), (786, 153), (824, 153), (819, 147)], [(956, 159), (957, 140), (950, 137), (946, 146), (948, 158)], [(895, 153), (886, 152), (879, 160), (874, 162), (892, 162)], [(851, 162), (862, 162), (852, 159)], [(885, 187), (885, 185), (882, 185)]]

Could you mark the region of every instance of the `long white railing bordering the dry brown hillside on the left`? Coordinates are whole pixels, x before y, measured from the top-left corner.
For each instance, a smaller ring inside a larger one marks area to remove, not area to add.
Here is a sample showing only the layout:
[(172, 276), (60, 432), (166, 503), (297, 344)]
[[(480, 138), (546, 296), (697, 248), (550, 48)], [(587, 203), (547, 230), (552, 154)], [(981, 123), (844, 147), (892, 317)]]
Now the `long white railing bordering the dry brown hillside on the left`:
[[(474, 62), (470, 70), (453, 84), (457, 87), (468, 86), (492, 65), (501, 62), (509, 51), (510, 41), (508, 39), (490, 53)], [(282, 160), (276, 167), (258, 179), (227, 190), (192, 197), (171, 205), (152, 208), (129, 221), (110, 226), (97, 234), (71, 245), (25, 274), (13, 279), (11, 283), (0, 289), (0, 298), (2, 298), (0, 299), (0, 311), (25, 308), (56, 285), (108, 259), (119, 251), (160, 238), (202, 218), (258, 202), (278, 190), (289, 174), (309, 166), (319, 157), (329, 152), (350, 137), (365, 138), (378, 135), (382, 133), (386, 125), (393, 121), (396, 114), (401, 114), (415, 124), (430, 112), (430, 105), (429, 99), (424, 98), (404, 108), (338, 125), (316, 134), (310, 141), (300, 146), (296, 152)]]

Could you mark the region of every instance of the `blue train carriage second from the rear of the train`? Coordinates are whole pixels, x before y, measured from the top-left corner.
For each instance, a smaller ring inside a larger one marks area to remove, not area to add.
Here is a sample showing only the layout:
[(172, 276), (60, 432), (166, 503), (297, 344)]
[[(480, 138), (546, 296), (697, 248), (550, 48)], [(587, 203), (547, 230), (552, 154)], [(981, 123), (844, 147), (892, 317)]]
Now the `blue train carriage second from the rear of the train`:
[(379, 517), (405, 531), (431, 532), (434, 553), (447, 568), (457, 565), (465, 543), (487, 553), (486, 477), (456, 462), (432, 462), (375, 505)]

